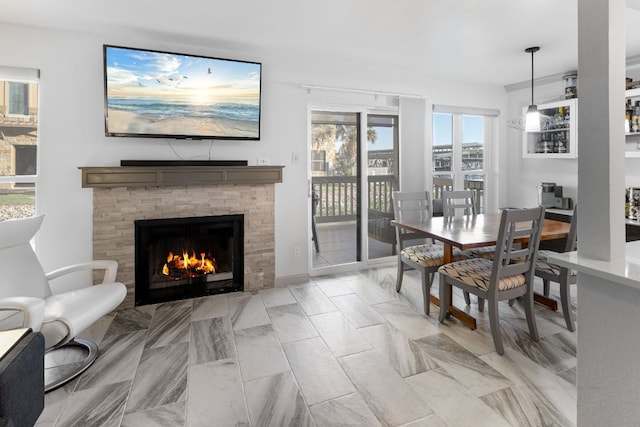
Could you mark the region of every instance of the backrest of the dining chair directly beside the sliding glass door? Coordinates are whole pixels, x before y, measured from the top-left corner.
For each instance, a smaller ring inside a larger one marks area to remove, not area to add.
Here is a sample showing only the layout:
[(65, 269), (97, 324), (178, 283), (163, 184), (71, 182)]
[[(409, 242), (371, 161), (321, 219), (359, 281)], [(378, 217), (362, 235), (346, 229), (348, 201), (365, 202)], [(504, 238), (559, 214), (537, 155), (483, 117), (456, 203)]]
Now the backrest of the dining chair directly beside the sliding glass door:
[[(428, 191), (394, 191), (391, 196), (393, 216), (396, 220), (421, 222), (431, 219), (431, 198)], [(424, 236), (396, 227), (396, 240), (400, 250), (403, 249), (403, 241), (416, 239), (424, 239)]]

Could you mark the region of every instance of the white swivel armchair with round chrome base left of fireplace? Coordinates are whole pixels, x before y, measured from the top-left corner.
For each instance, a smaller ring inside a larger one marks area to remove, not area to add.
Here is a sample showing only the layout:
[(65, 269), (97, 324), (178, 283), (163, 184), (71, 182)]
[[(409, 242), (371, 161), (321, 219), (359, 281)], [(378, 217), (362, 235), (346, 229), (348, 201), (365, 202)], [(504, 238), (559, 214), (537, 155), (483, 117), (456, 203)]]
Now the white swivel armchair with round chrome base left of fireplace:
[[(45, 391), (49, 391), (95, 361), (96, 344), (75, 336), (114, 310), (127, 289), (115, 281), (115, 261), (79, 263), (45, 274), (30, 244), (43, 219), (41, 215), (0, 222), (0, 330), (28, 327), (44, 335)], [(104, 270), (102, 283), (56, 292), (51, 280), (83, 270)], [(60, 359), (56, 352), (65, 352), (65, 365), (56, 365)]]

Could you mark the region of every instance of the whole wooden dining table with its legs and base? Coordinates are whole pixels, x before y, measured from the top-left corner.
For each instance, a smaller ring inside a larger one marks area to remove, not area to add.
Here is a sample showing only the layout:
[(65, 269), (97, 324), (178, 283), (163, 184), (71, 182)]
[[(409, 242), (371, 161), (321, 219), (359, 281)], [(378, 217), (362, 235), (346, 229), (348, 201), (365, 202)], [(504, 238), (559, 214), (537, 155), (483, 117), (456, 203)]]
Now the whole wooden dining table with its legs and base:
[[(425, 238), (442, 242), (443, 262), (444, 264), (448, 264), (452, 262), (454, 247), (466, 250), (495, 245), (500, 230), (501, 217), (501, 213), (487, 213), (432, 217), (422, 220), (393, 220), (391, 224), (407, 231), (423, 235)], [(526, 224), (523, 224), (523, 227), (525, 226)], [(569, 234), (569, 226), (570, 224), (566, 222), (545, 219), (542, 223), (540, 240), (566, 238)], [(523, 245), (528, 244), (526, 240), (516, 242)], [(453, 301), (451, 298), (451, 286), (448, 286), (447, 292), (449, 292), (449, 301)], [(430, 295), (430, 300), (433, 304), (440, 307), (440, 299), (438, 297)], [(535, 293), (534, 300), (553, 310), (558, 309), (557, 301), (544, 295)], [(440, 309), (446, 309), (451, 316), (460, 320), (469, 328), (476, 329), (476, 319), (467, 312), (453, 305), (447, 308), (440, 307)]]

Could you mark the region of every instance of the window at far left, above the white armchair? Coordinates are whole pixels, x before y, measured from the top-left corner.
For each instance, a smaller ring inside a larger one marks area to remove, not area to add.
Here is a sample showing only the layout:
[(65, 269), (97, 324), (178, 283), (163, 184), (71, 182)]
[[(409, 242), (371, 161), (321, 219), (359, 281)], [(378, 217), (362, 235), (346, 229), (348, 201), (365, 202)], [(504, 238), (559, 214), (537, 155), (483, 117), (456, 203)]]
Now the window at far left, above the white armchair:
[(37, 75), (0, 67), (0, 220), (35, 214)]

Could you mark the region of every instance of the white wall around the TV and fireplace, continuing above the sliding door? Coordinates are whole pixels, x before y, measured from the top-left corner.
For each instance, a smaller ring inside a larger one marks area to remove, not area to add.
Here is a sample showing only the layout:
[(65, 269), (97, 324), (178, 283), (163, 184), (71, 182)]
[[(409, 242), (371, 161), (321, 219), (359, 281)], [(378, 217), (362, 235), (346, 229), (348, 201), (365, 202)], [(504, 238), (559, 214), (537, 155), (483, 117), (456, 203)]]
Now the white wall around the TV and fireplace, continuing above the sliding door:
[[(476, 87), (460, 82), (430, 80), (397, 66), (368, 66), (361, 62), (340, 63), (323, 58), (303, 58), (287, 52), (265, 52), (252, 46), (230, 49), (214, 46), (211, 40), (191, 40), (179, 35), (144, 33), (79, 34), (3, 24), (0, 65), (37, 68), (40, 80), (40, 141), (37, 210), (45, 214), (38, 251), (46, 269), (92, 256), (92, 190), (81, 188), (79, 166), (117, 166), (121, 159), (175, 159), (166, 140), (107, 138), (104, 136), (102, 44), (177, 51), (263, 63), (261, 141), (215, 141), (214, 159), (258, 157), (284, 165), (284, 182), (276, 184), (276, 277), (308, 273), (310, 249), (307, 111), (311, 101), (301, 84), (351, 87), (387, 92), (426, 95), (431, 103), (506, 110), (507, 94), (502, 87)], [(334, 96), (340, 103), (344, 95)], [(361, 102), (362, 95), (354, 96)], [(339, 99), (338, 99), (339, 98)], [(508, 117), (508, 116), (506, 116)], [(505, 117), (499, 118), (504, 135)], [(430, 144), (430, 123), (426, 129)], [(183, 158), (207, 155), (209, 142), (172, 141)], [(411, 141), (402, 149), (410, 152)], [(500, 144), (503, 144), (501, 141)], [(416, 147), (416, 151), (425, 151)], [(427, 149), (426, 152), (429, 150)], [(292, 164), (292, 153), (300, 161)], [(496, 147), (495, 153), (503, 153)], [(498, 165), (500, 162), (496, 161)], [(411, 171), (424, 180), (430, 164)], [(406, 171), (405, 171), (406, 172)], [(499, 172), (500, 176), (504, 173)], [(539, 180), (532, 178), (532, 180)], [(506, 190), (503, 190), (506, 191)], [(499, 196), (498, 200), (504, 199)], [(499, 202), (502, 205), (502, 202)], [(302, 248), (293, 257), (293, 246)]]

